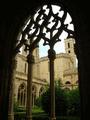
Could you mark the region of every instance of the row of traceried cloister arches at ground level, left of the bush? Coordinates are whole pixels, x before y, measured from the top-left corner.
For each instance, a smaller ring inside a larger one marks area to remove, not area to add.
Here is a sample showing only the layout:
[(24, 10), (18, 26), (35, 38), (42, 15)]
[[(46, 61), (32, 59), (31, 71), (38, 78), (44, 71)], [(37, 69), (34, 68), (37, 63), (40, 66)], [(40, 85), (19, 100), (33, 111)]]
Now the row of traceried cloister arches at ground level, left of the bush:
[[(37, 85), (32, 86), (32, 106), (35, 104), (36, 98), (40, 97), (42, 93), (45, 91), (44, 87), (40, 87), (39, 91), (37, 91)], [(37, 93), (39, 92), (39, 93)], [(27, 85), (26, 83), (21, 83), (18, 87), (18, 92), (16, 93), (16, 102), (20, 107), (26, 107), (27, 101)]]

